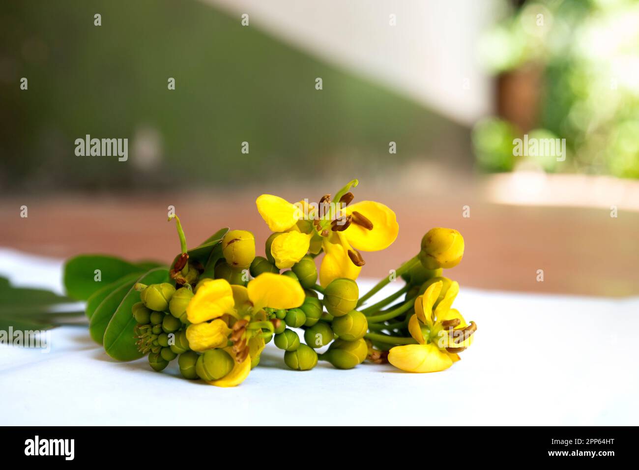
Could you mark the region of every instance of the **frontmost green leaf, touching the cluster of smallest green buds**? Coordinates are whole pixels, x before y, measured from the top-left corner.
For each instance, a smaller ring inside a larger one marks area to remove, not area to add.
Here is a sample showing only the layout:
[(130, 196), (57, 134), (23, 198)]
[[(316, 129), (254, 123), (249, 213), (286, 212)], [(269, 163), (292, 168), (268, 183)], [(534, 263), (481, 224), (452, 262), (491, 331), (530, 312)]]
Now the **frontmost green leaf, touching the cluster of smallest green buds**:
[[(169, 281), (169, 271), (163, 268), (152, 269), (137, 282), (150, 285)], [(104, 333), (104, 350), (118, 361), (133, 361), (143, 356), (135, 345), (135, 318), (131, 308), (140, 301), (140, 293), (130, 288), (120, 302)]]

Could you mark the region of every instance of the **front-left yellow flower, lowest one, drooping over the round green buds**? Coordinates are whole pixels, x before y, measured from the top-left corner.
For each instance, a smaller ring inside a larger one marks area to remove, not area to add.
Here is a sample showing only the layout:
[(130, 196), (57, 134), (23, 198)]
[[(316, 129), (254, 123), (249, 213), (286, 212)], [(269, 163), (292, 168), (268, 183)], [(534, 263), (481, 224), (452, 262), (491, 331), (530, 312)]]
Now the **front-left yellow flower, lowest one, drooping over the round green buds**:
[[(261, 328), (250, 329), (251, 322), (266, 319), (265, 307), (296, 308), (304, 298), (299, 283), (271, 272), (260, 274), (246, 287), (231, 286), (225, 279), (202, 281), (187, 306), (187, 318), (192, 323), (187, 327), (189, 346), (198, 352), (222, 348), (235, 361), (231, 372), (208, 383), (231, 387), (246, 379), (265, 345)], [(233, 347), (227, 347), (231, 343)]]

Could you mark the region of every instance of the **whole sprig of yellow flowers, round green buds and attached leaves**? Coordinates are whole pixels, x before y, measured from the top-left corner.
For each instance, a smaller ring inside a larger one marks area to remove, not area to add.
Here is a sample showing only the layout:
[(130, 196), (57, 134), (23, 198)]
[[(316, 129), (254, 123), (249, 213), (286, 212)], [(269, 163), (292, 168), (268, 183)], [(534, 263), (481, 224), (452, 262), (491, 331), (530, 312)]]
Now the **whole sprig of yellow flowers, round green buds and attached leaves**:
[[(258, 212), (273, 232), (266, 257), (256, 256), (247, 230), (224, 228), (189, 249), (180, 219), (169, 214), (181, 246), (170, 266), (81, 255), (65, 265), (66, 290), (86, 300), (89, 333), (109, 356), (148, 355), (158, 372), (178, 359), (183, 377), (215, 386), (243, 382), (270, 341), (293, 370), (318, 361), (351, 369), (366, 360), (407, 372), (445, 370), (477, 329), (452, 308), (458, 283), (442, 276), (461, 261), (463, 237), (429, 230), (417, 255), (360, 295), (361, 252), (389, 247), (399, 225), (389, 207), (353, 202), (357, 185), (317, 203), (259, 196)], [(397, 279), (401, 288), (370, 302)]]

